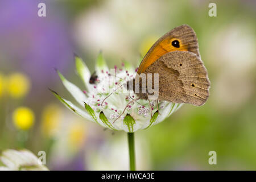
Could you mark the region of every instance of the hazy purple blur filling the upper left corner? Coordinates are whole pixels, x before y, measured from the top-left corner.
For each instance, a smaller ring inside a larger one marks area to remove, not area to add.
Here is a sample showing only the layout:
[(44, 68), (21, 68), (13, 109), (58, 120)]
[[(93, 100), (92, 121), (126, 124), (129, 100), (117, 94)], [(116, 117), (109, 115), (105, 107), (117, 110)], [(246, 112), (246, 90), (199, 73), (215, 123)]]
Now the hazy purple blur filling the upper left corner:
[[(46, 3), (46, 17), (38, 16), (38, 3)], [(1, 0), (0, 68), (30, 76), (32, 90), (53, 84), (53, 68), (65, 71), (73, 49), (67, 23), (51, 1)]]

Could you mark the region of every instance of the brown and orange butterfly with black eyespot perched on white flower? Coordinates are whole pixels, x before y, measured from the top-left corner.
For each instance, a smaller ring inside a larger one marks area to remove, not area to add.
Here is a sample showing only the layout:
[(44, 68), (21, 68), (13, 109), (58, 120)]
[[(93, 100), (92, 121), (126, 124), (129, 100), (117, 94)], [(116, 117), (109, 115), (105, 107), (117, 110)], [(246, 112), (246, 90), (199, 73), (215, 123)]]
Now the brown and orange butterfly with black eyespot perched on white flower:
[[(140, 74), (159, 74), (158, 85), (152, 81), (152, 85), (159, 88), (158, 100), (200, 106), (209, 97), (210, 81), (200, 58), (196, 34), (186, 24), (174, 28), (156, 41), (144, 56), (137, 73), (133, 85), (139, 84), (140, 87), (141, 83), (137, 83)], [(136, 94), (144, 100), (148, 100), (150, 95), (148, 91)]]

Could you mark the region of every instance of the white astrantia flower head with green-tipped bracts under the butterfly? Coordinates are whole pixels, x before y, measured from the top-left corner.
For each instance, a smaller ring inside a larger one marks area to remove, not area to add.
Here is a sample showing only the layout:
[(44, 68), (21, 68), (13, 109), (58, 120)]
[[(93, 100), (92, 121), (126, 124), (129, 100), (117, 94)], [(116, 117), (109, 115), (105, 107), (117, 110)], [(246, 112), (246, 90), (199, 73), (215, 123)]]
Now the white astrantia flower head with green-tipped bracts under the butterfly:
[[(90, 80), (91, 74), (85, 63), (77, 56), (75, 60), (77, 73), (85, 84), (85, 90), (82, 91), (65, 79), (59, 71), (58, 73), (65, 88), (67, 88), (83, 109), (71, 101), (60, 97), (56, 92), (52, 92), (70, 110), (89, 121), (98, 123), (108, 129), (133, 133), (134, 131), (147, 129), (162, 122), (181, 106), (181, 104), (160, 101), (157, 107), (156, 101), (151, 101), (150, 108), (148, 101), (141, 99), (128, 105), (122, 114), (126, 105), (130, 101), (135, 100), (137, 96), (133, 90), (127, 92), (121, 85), (125, 84), (128, 80), (132, 80), (137, 70), (126, 62), (122, 64), (121, 68), (115, 67), (113, 69), (114, 74), (112, 74), (100, 53), (96, 61), (97, 77), (95, 76)], [(118, 87), (120, 88), (117, 89)], [(117, 90), (110, 94), (115, 89)], [(109, 97), (106, 98), (107, 96)], [(104, 100), (105, 98), (106, 100)], [(119, 117), (120, 115), (121, 117)], [(115, 119), (117, 120), (115, 121)]]

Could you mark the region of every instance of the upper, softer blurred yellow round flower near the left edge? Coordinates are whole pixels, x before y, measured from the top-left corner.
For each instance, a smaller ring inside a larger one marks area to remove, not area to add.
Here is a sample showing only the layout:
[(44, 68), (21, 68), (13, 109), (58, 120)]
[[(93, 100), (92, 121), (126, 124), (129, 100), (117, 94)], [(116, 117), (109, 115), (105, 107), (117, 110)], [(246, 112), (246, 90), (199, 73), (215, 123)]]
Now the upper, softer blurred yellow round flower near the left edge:
[(23, 73), (13, 73), (8, 80), (8, 92), (13, 98), (25, 96), (30, 89), (30, 80)]

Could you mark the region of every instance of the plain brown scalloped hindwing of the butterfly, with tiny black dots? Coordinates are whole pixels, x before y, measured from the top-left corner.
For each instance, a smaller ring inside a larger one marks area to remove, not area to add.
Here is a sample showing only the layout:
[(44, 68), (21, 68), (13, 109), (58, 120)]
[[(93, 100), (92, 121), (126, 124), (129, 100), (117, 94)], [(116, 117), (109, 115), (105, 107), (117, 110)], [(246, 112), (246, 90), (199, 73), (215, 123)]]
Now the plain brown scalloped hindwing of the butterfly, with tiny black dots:
[(195, 53), (166, 53), (144, 73), (159, 74), (159, 100), (200, 106), (209, 97), (208, 73), (203, 61)]

